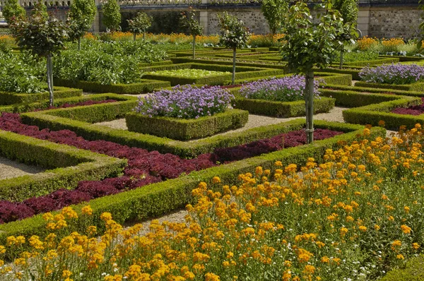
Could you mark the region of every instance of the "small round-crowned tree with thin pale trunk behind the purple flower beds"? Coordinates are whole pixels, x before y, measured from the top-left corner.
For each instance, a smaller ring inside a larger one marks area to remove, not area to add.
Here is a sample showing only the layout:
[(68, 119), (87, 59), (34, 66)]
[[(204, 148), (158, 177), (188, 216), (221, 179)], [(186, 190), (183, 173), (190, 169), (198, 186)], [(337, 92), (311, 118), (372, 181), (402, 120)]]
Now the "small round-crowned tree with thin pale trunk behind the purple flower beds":
[(249, 28), (245, 26), (242, 20), (235, 16), (228, 15), (227, 12), (223, 16), (218, 16), (220, 26), (220, 44), (232, 49), (232, 85), (235, 84), (235, 56), (237, 48), (247, 46), (249, 40)]

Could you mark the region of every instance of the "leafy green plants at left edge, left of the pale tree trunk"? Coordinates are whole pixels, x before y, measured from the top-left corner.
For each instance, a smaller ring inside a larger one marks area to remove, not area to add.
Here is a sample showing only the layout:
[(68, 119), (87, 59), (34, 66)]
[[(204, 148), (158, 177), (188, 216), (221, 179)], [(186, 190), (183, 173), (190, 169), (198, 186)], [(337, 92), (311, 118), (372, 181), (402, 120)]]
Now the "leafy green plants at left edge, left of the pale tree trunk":
[(0, 52), (0, 91), (45, 92), (45, 66), (30, 52)]

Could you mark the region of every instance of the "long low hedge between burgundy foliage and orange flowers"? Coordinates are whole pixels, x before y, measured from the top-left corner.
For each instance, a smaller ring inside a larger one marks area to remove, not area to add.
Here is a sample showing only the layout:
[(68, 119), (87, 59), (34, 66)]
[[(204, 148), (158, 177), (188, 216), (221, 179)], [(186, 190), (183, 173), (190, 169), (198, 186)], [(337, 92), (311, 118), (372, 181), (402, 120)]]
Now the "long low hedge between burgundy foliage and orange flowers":
[[(304, 125), (305, 122), (301, 124), (301, 126)], [(177, 179), (170, 179), (157, 184), (143, 186), (139, 189), (97, 198), (89, 203), (93, 209), (92, 216), (81, 215), (81, 208), (87, 203), (73, 205), (72, 208), (78, 213), (78, 219), (69, 223), (67, 232), (85, 232), (88, 225), (95, 225), (99, 230), (104, 229), (104, 222), (100, 220), (100, 215), (104, 212), (112, 213), (114, 220), (124, 223), (156, 217), (172, 210), (183, 208), (187, 203), (194, 202), (192, 189), (196, 188), (199, 181), (211, 183), (211, 179), (215, 176), (220, 177), (221, 184), (231, 185), (237, 184), (237, 176), (239, 174), (252, 172), (257, 166), (275, 170), (274, 163), (276, 161), (283, 162), (283, 165), (295, 163), (301, 166), (305, 165), (308, 157), (314, 157), (317, 162), (322, 162), (323, 155), (327, 149), (336, 149), (341, 147), (341, 145), (352, 143), (358, 140), (358, 134), (363, 131), (363, 126), (337, 122), (316, 121), (315, 126), (316, 128), (329, 128), (345, 133), (334, 138), (318, 140), (312, 145), (287, 148), (227, 165), (192, 172)], [(386, 136), (384, 128), (371, 128), (370, 138), (377, 136)], [(38, 235), (43, 239), (47, 234), (46, 222), (42, 219), (42, 215), (36, 215), (25, 220), (0, 225), (0, 244), (5, 244), (6, 237), (11, 235), (24, 235), (25, 237)], [(21, 251), (25, 251), (25, 249), (21, 249)]]

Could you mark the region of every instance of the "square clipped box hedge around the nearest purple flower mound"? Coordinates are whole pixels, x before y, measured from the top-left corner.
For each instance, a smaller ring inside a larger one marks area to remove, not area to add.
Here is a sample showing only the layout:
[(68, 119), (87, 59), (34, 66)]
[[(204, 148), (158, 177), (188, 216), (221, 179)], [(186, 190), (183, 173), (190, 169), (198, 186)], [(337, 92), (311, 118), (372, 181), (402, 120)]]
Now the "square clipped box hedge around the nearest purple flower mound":
[(228, 109), (226, 112), (198, 119), (149, 117), (136, 112), (129, 112), (125, 116), (129, 131), (173, 140), (191, 140), (213, 136), (216, 133), (241, 128), (245, 126), (247, 119), (249, 119), (249, 112), (239, 109)]

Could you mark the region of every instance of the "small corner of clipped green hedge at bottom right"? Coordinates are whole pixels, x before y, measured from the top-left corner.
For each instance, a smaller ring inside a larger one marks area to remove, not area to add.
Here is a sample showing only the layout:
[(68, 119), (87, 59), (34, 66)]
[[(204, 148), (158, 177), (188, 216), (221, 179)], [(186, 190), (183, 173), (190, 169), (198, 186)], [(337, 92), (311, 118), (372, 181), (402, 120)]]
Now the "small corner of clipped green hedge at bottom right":
[(424, 256), (410, 258), (405, 268), (389, 271), (380, 281), (422, 281), (424, 280)]

